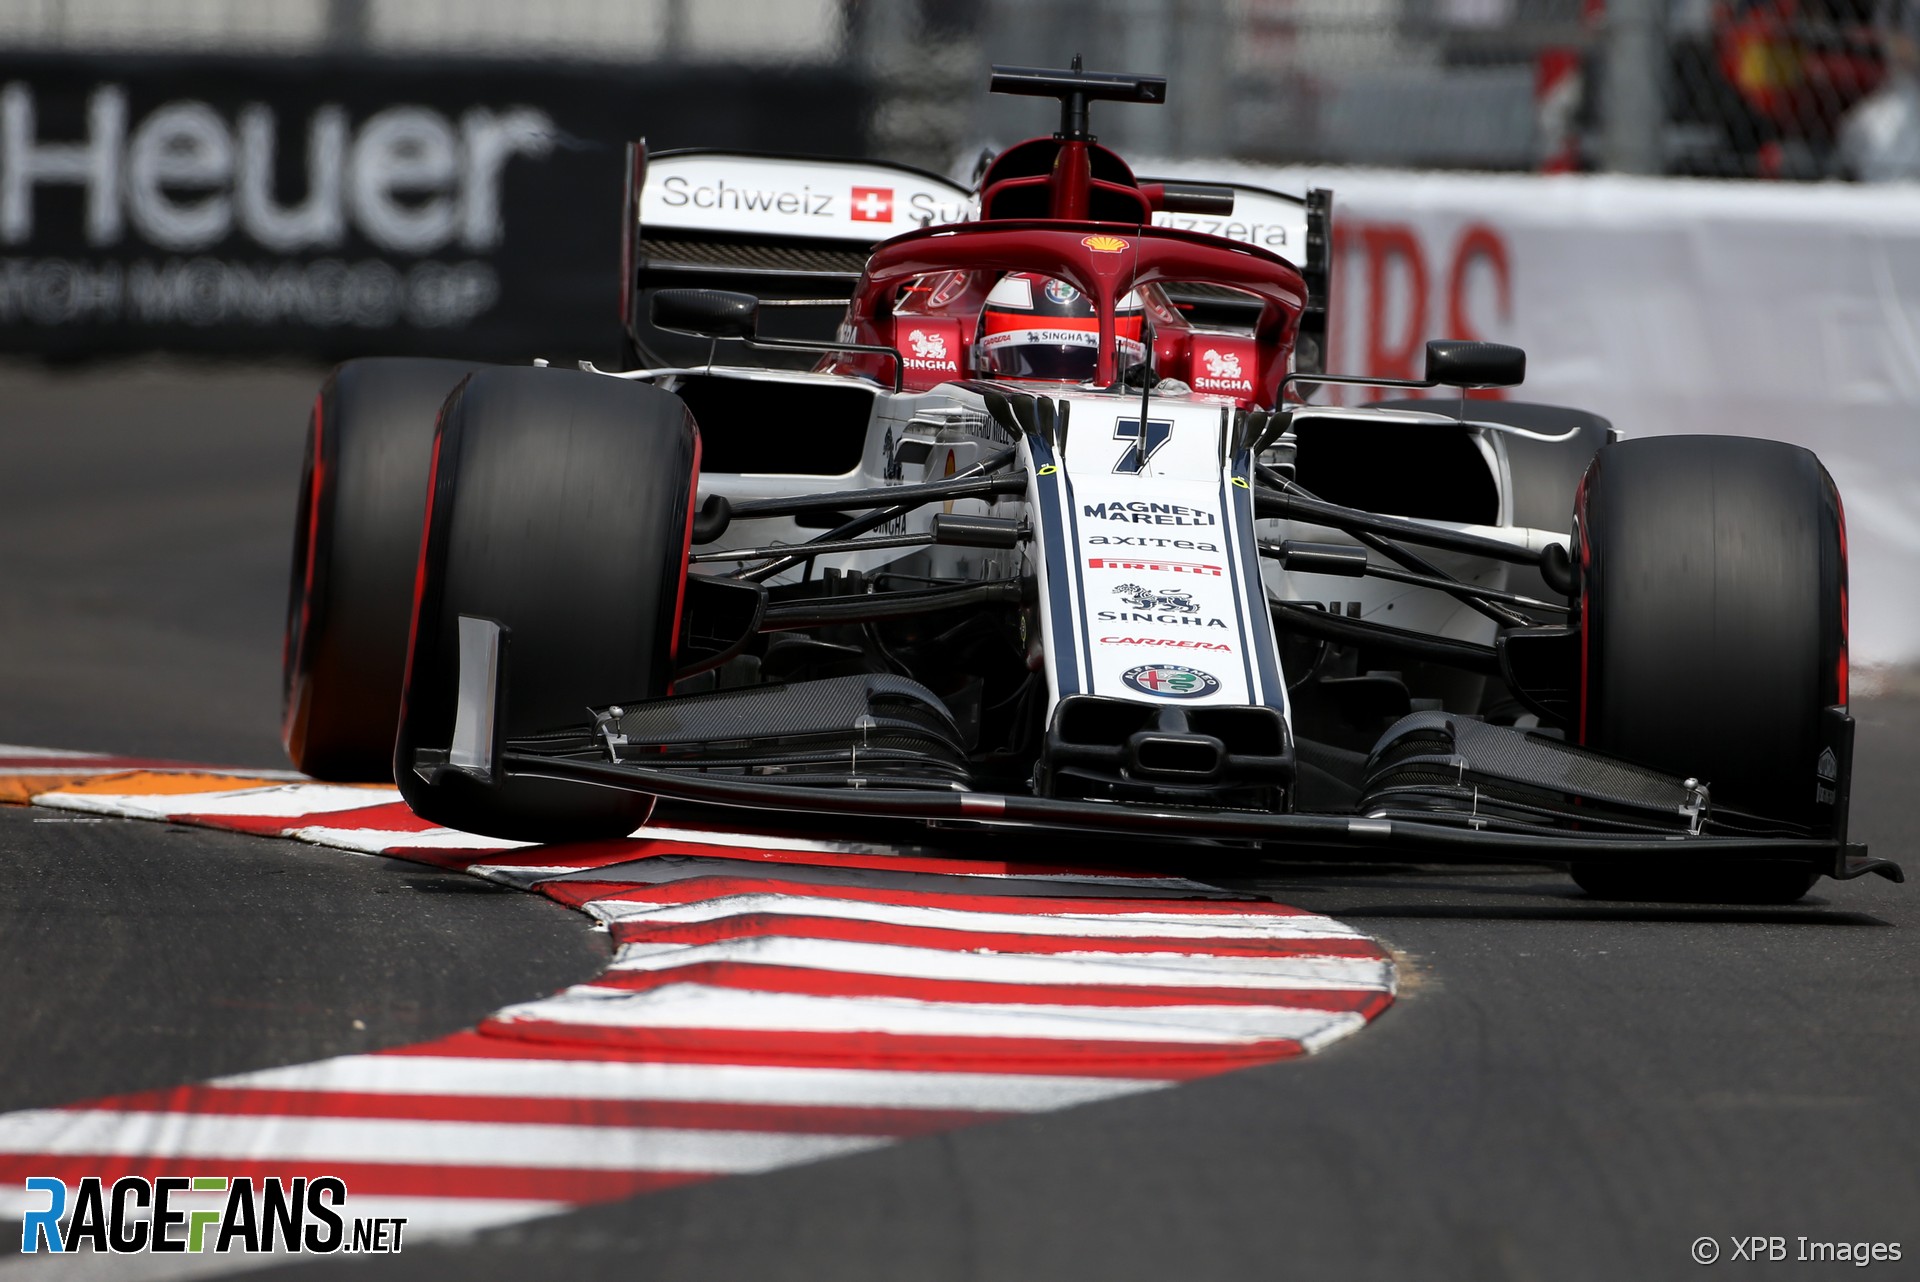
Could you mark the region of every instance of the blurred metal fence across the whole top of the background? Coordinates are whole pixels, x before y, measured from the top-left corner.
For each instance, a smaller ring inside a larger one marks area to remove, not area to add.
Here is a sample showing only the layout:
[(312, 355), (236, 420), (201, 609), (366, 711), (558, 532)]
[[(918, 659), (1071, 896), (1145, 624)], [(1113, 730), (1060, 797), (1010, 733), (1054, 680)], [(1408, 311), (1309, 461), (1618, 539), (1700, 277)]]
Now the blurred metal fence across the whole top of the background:
[[(0, 0), (0, 52), (835, 67), (870, 146), (964, 175), (1046, 127), (989, 61), (1164, 71), (1146, 155), (1755, 178), (1920, 177), (1920, 0)], [(689, 109), (699, 109), (689, 104)]]

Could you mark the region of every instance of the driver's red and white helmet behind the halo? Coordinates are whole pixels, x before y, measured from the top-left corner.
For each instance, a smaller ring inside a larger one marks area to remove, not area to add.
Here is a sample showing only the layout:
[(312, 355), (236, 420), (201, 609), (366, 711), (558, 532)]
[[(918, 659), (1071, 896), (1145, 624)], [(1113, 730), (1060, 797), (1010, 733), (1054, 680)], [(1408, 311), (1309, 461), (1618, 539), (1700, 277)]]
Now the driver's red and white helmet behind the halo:
[[(1146, 311), (1129, 290), (1114, 315), (1116, 353), (1125, 370), (1146, 359)], [(979, 359), (989, 378), (1091, 382), (1100, 365), (1100, 311), (1056, 276), (1010, 273), (979, 313)]]

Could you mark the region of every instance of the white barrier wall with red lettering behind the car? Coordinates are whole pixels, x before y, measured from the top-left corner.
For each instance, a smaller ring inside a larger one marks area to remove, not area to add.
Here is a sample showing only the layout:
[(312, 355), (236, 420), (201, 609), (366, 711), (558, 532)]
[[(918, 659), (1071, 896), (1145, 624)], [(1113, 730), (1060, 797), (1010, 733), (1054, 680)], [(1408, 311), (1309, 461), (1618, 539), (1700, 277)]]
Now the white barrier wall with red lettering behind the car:
[(1515, 399), (1628, 434), (1814, 449), (1847, 505), (1853, 656), (1920, 660), (1920, 186), (1142, 165), (1334, 192), (1329, 368), (1526, 347)]

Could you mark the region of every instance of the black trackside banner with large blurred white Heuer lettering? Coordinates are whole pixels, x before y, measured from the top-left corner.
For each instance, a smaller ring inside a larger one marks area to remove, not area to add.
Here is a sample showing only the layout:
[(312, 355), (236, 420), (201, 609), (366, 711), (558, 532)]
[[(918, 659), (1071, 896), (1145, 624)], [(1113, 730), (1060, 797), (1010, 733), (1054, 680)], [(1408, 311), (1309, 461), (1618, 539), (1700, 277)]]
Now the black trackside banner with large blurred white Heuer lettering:
[(609, 361), (622, 148), (856, 155), (845, 71), (0, 58), (0, 351)]

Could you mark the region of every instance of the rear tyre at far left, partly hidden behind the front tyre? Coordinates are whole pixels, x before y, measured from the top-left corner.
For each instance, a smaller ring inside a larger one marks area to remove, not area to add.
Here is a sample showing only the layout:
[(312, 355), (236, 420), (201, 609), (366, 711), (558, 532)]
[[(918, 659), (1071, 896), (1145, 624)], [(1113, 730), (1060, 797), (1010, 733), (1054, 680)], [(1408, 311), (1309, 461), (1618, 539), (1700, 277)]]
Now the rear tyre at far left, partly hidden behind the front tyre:
[(392, 779), (434, 418), (472, 368), (348, 361), (315, 397), (294, 520), (280, 741), (317, 779)]

